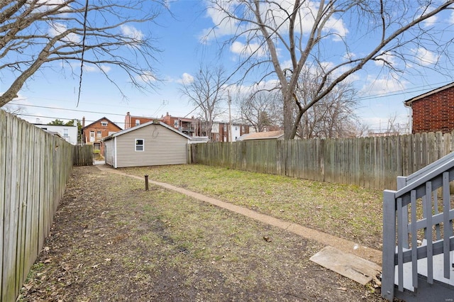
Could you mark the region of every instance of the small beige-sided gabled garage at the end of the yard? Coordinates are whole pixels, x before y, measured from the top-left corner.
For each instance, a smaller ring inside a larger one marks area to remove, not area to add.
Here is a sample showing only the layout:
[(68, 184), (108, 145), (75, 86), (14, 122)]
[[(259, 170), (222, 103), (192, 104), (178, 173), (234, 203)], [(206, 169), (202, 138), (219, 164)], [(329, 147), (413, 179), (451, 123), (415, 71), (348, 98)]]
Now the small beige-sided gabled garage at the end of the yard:
[(150, 121), (104, 138), (106, 164), (114, 168), (186, 164), (191, 138), (161, 121)]

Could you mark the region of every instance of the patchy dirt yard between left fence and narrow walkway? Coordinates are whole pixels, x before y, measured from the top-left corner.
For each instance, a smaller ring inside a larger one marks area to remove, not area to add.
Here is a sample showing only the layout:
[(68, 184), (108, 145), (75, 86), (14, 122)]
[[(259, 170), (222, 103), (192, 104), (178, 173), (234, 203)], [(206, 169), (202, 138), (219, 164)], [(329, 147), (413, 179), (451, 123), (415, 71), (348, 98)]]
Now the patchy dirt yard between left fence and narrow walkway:
[(143, 181), (74, 168), (19, 301), (382, 301), (317, 242)]

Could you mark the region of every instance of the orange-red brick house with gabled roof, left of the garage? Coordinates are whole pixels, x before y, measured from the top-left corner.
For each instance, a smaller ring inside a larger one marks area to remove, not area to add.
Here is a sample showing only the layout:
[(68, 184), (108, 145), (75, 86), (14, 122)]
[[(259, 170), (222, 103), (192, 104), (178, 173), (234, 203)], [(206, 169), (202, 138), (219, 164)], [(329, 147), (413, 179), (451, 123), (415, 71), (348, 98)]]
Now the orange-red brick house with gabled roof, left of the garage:
[(85, 125), (85, 118), (82, 118), (82, 144), (93, 145), (93, 150), (99, 150), (104, 155), (104, 144), (101, 138), (105, 138), (120, 131), (121, 128), (109, 118), (99, 118), (89, 125)]

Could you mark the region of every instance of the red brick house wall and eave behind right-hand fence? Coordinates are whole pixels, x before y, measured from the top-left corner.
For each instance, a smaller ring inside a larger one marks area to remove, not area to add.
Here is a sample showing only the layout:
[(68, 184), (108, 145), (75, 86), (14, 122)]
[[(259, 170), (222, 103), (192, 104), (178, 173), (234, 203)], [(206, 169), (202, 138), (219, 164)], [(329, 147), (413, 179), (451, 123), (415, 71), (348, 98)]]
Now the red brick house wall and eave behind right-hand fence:
[(454, 82), (404, 101), (411, 108), (411, 133), (454, 130)]

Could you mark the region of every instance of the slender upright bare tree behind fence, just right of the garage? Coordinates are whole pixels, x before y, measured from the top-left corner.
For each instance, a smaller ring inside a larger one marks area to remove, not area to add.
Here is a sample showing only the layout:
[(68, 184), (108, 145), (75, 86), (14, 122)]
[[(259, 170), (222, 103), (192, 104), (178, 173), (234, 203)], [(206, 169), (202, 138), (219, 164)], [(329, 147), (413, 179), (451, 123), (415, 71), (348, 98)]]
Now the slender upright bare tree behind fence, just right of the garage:
[(221, 104), (225, 100), (226, 86), (223, 67), (201, 66), (194, 77), (187, 75), (182, 81), (181, 93), (199, 108), (202, 133), (211, 140), (214, 120), (223, 113)]

